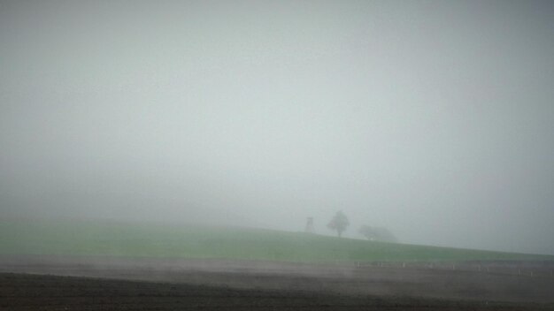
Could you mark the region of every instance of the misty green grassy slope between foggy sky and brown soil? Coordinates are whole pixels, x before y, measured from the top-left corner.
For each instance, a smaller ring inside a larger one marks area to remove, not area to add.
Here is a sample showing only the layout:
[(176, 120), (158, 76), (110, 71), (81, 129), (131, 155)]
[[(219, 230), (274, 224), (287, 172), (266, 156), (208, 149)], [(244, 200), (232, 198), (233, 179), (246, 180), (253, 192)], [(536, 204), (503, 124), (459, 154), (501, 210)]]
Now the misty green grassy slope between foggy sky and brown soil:
[(554, 256), (198, 225), (0, 221), (0, 254), (226, 258), (286, 262), (554, 260)]

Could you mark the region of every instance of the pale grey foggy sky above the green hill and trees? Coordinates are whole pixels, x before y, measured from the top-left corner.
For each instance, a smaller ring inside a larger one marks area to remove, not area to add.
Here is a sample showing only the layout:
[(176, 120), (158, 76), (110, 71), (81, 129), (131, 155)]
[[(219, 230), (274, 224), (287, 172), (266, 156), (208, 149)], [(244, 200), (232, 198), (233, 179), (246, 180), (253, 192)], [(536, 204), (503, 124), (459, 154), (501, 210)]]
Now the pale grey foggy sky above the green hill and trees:
[(554, 5), (1, 1), (0, 217), (554, 254)]

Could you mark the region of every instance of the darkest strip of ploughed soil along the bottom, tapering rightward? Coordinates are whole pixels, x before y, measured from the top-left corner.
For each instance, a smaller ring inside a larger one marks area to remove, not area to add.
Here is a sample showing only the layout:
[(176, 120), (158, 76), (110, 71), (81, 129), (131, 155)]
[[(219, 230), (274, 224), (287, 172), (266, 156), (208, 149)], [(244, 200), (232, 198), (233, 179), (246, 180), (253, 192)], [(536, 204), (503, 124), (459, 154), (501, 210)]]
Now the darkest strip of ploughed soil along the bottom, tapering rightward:
[(2, 310), (551, 310), (518, 304), (0, 274)]

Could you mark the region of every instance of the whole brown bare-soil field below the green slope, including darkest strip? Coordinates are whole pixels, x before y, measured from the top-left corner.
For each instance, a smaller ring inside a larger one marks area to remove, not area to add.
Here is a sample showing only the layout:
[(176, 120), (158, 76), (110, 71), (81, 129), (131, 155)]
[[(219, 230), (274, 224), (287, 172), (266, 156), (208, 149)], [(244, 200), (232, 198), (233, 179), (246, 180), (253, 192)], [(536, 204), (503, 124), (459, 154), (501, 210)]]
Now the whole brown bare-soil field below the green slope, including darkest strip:
[(536, 275), (43, 256), (0, 272), (0, 310), (554, 310), (554, 278)]

